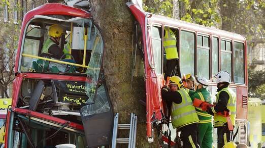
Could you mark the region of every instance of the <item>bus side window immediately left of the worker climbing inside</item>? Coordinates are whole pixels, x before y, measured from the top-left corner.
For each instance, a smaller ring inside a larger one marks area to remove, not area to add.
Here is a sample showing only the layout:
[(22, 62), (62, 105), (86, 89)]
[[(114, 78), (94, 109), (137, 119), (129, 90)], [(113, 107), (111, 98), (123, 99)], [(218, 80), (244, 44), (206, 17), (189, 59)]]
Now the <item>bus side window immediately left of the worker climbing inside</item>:
[(162, 39), (161, 39), (161, 27), (152, 26), (152, 48), (154, 53), (154, 63), (156, 74), (162, 74)]

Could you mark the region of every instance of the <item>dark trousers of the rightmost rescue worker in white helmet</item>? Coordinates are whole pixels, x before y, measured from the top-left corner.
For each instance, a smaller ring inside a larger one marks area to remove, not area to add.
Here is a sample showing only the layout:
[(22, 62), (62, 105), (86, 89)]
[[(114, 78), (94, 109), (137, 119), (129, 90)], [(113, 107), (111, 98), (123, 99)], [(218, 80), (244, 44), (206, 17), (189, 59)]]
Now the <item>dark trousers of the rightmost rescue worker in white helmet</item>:
[(230, 141), (231, 131), (227, 126), (217, 127), (217, 148), (222, 148), (225, 142)]

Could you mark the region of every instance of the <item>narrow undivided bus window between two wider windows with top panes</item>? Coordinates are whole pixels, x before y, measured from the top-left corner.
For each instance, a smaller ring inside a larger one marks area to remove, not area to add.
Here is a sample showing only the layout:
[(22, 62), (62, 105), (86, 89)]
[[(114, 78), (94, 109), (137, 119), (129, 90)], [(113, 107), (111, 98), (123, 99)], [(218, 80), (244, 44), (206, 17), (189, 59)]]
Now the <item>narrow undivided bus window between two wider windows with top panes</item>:
[(218, 72), (218, 38), (212, 40), (212, 75)]

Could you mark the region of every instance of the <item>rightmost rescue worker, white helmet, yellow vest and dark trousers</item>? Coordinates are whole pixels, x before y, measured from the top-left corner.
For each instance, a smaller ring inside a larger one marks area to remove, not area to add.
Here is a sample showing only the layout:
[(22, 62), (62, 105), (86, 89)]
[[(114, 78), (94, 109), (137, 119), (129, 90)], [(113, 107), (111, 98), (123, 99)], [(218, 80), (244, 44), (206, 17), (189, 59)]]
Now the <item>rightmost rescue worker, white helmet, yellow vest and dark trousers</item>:
[(229, 111), (231, 124), (235, 126), (236, 120), (236, 104), (237, 98), (233, 90), (231, 90), (228, 85), (230, 84), (230, 74), (226, 71), (218, 72), (214, 78), (217, 83), (217, 95), (216, 95), (216, 105), (214, 107), (208, 108), (207, 112), (214, 116), (214, 128), (217, 128), (218, 136), (218, 148), (223, 147), (223, 145), (230, 141), (231, 133), (228, 129), (228, 123), (226, 117), (217, 114), (218, 112)]

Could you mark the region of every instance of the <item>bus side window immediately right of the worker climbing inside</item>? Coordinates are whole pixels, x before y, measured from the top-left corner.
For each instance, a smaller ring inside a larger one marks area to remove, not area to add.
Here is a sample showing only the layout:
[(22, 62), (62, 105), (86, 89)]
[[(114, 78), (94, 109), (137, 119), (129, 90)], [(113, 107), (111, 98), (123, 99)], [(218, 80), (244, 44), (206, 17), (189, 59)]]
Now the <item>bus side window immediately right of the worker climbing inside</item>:
[(180, 71), (182, 74), (194, 75), (195, 34), (181, 31), (180, 34)]

